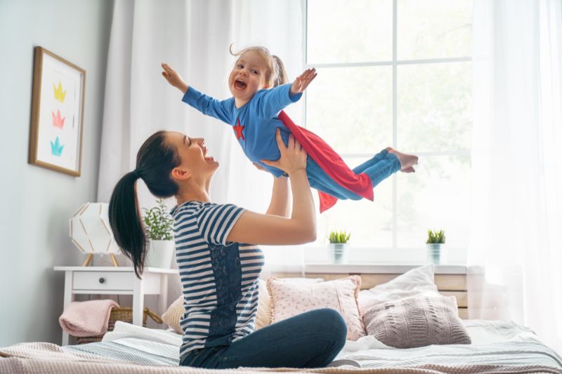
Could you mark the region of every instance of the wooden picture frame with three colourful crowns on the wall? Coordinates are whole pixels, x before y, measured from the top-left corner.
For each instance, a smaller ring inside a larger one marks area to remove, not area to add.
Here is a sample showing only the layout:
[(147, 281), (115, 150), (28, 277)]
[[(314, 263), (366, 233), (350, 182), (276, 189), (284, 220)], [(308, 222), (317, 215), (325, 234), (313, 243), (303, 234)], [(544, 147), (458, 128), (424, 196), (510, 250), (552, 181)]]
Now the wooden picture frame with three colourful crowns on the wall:
[(86, 70), (34, 48), (29, 163), (79, 177)]

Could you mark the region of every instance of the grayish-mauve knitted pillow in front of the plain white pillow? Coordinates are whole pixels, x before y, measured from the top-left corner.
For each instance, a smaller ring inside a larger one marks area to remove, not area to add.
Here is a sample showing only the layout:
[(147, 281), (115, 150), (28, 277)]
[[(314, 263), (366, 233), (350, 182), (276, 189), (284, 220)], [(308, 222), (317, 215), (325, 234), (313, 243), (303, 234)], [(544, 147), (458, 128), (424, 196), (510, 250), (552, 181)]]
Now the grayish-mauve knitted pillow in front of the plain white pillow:
[(470, 344), (455, 296), (414, 296), (385, 302), (363, 315), (367, 334), (396, 348)]

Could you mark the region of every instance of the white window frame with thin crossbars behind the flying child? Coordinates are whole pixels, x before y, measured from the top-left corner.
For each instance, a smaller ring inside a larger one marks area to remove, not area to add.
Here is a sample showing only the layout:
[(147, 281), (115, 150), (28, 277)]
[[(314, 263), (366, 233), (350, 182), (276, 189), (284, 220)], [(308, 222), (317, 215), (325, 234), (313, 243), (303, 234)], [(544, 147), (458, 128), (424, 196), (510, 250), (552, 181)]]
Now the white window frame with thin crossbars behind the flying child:
[[(398, 25), (398, 0), (393, 0), (392, 9), (392, 60), (377, 62), (343, 62), (329, 64), (308, 63), (308, 0), (303, 4), (303, 66), (305, 69), (315, 68), (332, 68), (332, 67), (374, 67), (374, 66), (391, 66), (392, 67), (392, 145), (396, 148), (398, 143), (398, 124), (397, 124), (397, 86), (398, 77), (397, 69), (400, 65), (423, 65), (450, 62), (472, 62), (471, 57), (460, 58), (428, 58), (420, 60), (398, 60), (397, 51), (397, 25)], [(303, 95), (303, 119), (302, 123), (306, 127), (306, 91)], [(407, 149), (403, 152), (408, 153)], [(447, 151), (447, 152), (415, 152), (417, 156), (470, 156), (471, 152), (467, 150)], [(343, 159), (346, 158), (366, 158), (372, 157), (370, 153), (344, 153), (340, 154)], [(425, 261), (425, 251), (418, 248), (398, 247), (398, 182), (396, 173), (392, 175), (392, 247), (391, 248), (353, 248), (350, 254), (350, 262), (392, 262), (392, 263), (418, 263)], [(466, 251), (468, 248), (448, 248), (450, 263), (466, 263)], [(422, 253), (423, 252), (423, 253)], [(406, 259), (406, 260), (405, 260)], [(324, 247), (306, 246), (305, 263), (325, 263), (327, 262), (327, 252)]]

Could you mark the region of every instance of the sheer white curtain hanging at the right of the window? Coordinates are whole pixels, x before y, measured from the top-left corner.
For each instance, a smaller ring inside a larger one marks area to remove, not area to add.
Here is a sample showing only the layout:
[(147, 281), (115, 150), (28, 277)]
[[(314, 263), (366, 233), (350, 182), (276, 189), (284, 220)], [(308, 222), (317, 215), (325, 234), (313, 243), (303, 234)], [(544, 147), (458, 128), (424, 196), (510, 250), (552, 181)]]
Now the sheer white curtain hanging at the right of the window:
[(474, 0), (469, 316), (562, 352), (562, 8)]

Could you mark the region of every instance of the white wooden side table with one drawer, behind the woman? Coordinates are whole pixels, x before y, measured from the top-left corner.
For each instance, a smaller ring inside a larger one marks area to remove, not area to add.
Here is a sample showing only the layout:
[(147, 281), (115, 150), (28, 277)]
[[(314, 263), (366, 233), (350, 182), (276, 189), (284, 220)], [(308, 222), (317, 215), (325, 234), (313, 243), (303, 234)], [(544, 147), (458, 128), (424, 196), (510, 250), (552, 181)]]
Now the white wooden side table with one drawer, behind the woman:
[[(55, 266), (65, 272), (65, 305), (76, 294), (133, 295), (133, 324), (143, 326), (144, 295), (158, 295), (159, 314), (166, 310), (168, 274), (177, 269), (145, 267), (143, 279), (138, 279), (132, 267)], [(68, 345), (68, 333), (63, 330), (63, 345)]]

